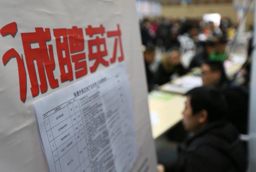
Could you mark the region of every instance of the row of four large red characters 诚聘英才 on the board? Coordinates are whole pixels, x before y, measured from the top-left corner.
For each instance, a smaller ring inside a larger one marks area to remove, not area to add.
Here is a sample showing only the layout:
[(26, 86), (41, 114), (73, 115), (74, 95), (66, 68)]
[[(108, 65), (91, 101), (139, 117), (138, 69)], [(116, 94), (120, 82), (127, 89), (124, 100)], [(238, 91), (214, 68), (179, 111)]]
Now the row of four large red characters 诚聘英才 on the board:
[[(3, 26), (0, 34), (3, 37), (12, 35), (15, 38), (17, 31), (17, 24), (13, 22)], [(5, 66), (12, 58), (17, 61), (20, 99), (22, 102), (26, 101), (26, 68), (31, 83), (32, 97), (35, 97), (39, 92), (47, 92), (48, 84), (52, 89), (59, 86), (58, 79), (54, 76), (55, 64), (59, 66), (61, 82), (66, 82), (73, 81), (74, 76), (76, 79), (86, 76), (88, 72), (87, 64), (90, 64), (90, 73), (93, 73), (99, 65), (108, 67), (110, 62), (111, 64), (116, 62), (116, 58), (118, 62), (124, 60), (119, 25), (117, 25), (116, 30), (106, 32), (103, 25), (99, 27), (88, 25), (84, 30), (85, 34), (89, 36), (87, 42), (84, 42), (83, 28), (78, 28), (77, 26), (68, 29), (55, 28), (52, 31), (55, 37), (56, 49), (50, 44), (52, 40), (50, 29), (35, 28), (34, 32), (21, 33), (24, 58), (14, 48), (3, 54), (3, 64)], [(112, 56), (108, 56), (106, 37), (114, 38)], [(90, 63), (87, 62), (84, 52), (85, 43), (88, 46), (88, 60)], [(120, 56), (117, 57), (118, 49)], [(54, 54), (56, 54), (55, 57)], [(26, 60), (26, 65), (24, 59)], [(57, 59), (58, 63), (55, 63)], [(73, 75), (73, 72), (75, 75)]]

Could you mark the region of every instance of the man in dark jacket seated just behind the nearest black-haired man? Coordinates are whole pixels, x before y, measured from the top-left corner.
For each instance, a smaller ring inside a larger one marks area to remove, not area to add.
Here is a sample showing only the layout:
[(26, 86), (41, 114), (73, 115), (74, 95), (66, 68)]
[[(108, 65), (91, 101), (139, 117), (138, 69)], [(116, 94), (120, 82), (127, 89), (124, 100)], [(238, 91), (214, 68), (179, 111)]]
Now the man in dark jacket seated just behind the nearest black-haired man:
[(222, 62), (206, 61), (201, 66), (203, 85), (210, 85), (221, 90), (227, 101), (227, 120), (233, 123), (239, 133), (247, 134), (248, 101), (247, 88), (237, 86), (225, 73)]

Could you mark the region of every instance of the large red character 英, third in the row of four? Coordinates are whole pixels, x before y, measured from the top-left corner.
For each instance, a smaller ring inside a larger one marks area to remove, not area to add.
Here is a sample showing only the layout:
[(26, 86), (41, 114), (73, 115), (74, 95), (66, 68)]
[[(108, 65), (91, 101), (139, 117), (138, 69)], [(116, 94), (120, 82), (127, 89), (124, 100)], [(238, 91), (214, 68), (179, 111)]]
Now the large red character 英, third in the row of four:
[[(105, 28), (103, 27), (103, 25), (95, 28), (93, 28), (91, 25), (88, 25), (88, 27), (85, 29), (85, 33), (90, 37), (93, 37), (94, 34), (101, 34), (101, 36), (103, 36), (105, 34)], [(101, 50), (101, 45), (103, 45), (103, 50)], [(93, 46), (96, 46), (96, 52), (93, 52)], [(88, 49), (88, 59), (95, 60), (93, 66), (90, 67), (91, 73), (97, 70), (99, 64), (102, 64), (104, 66), (109, 65), (109, 62), (103, 58), (104, 56), (108, 55), (105, 38), (100, 38), (99, 36), (96, 36), (95, 39), (88, 40)]]

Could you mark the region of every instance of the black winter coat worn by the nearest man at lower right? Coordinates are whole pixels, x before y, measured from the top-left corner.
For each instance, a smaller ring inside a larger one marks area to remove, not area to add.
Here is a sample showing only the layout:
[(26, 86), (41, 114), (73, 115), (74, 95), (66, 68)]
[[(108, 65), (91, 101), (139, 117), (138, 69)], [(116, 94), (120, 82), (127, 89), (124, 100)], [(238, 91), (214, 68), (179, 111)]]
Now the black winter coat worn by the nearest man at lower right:
[(245, 172), (247, 155), (232, 124), (209, 124), (179, 147), (178, 172)]

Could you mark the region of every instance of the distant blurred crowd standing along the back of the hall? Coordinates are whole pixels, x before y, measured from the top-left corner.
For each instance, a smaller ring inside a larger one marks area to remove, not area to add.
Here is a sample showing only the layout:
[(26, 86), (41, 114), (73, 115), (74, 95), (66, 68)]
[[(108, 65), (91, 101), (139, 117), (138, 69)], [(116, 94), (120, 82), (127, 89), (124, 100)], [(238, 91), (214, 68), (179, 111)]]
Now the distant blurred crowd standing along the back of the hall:
[(222, 18), (219, 26), (213, 22), (205, 22), (202, 19), (167, 19), (165, 17), (140, 21), (142, 44), (154, 45), (168, 51), (172, 47), (180, 47), (178, 36), (184, 35), (193, 39), (195, 43), (226, 37), (232, 39), (235, 36), (236, 25), (228, 18)]

